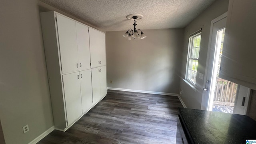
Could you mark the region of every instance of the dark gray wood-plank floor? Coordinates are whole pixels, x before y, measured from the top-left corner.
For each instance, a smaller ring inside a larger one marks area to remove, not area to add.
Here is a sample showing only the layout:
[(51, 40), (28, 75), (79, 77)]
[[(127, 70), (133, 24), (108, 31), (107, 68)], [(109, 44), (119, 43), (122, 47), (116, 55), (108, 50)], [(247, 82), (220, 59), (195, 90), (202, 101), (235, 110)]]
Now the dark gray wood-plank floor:
[(66, 132), (38, 144), (176, 144), (178, 107), (177, 96), (108, 90)]

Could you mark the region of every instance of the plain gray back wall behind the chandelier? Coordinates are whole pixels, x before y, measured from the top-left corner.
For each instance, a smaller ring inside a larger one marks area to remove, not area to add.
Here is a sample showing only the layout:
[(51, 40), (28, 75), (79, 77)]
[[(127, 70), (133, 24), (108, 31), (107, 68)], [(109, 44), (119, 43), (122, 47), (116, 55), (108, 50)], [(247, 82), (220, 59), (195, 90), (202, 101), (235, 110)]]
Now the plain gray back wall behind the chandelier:
[(106, 32), (108, 87), (178, 93), (184, 29), (143, 32), (142, 40), (127, 40), (125, 31)]

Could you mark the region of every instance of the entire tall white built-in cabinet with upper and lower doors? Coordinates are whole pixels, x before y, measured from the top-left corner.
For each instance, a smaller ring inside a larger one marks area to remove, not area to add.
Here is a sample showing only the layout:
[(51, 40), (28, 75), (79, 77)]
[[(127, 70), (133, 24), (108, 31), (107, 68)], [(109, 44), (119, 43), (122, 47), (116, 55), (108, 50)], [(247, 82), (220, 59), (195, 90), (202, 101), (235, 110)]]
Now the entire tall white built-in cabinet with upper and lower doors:
[(40, 17), (54, 126), (66, 131), (106, 96), (105, 34), (57, 12)]

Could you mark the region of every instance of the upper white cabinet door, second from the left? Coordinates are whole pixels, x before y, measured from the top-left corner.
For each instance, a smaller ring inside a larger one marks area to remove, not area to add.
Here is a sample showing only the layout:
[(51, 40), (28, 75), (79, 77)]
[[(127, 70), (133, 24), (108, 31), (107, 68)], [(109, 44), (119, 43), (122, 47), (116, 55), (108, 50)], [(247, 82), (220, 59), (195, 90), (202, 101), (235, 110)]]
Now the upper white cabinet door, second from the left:
[(78, 48), (79, 70), (89, 69), (91, 66), (88, 26), (76, 22), (76, 39)]

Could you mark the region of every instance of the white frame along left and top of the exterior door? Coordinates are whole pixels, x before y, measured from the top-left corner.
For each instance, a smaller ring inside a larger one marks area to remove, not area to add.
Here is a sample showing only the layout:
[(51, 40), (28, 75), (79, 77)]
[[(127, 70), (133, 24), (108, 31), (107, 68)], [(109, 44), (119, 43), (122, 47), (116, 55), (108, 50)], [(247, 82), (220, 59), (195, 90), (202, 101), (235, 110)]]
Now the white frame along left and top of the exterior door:
[[(212, 43), (213, 25), (214, 25), (214, 23), (222, 20), (223, 18), (226, 18), (227, 16), (228, 16), (228, 12), (225, 12), (224, 14), (218, 16), (217, 18), (215, 18), (211, 22), (203, 86), (207, 85), (206, 81), (207, 81), (207, 77), (208, 77), (208, 68), (209, 68), (209, 64), (208, 63), (209, 63), (209, 60), (210, 60), (210, 49), (211, 49), (211, 43)], [(208, 92), (202, 91), (201, 110), (207, 110), (208, 109), (208, 103), (209, 103), (209, 97), (210, 97), (209, 92), (210, 92), (210, 89), (208, 90)]]

